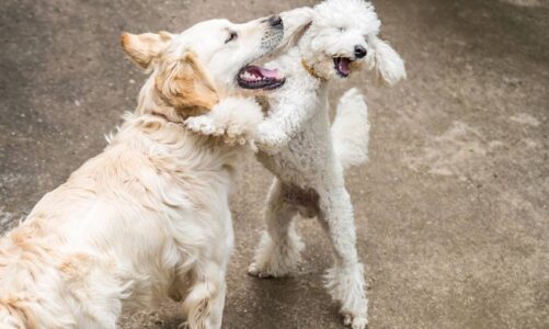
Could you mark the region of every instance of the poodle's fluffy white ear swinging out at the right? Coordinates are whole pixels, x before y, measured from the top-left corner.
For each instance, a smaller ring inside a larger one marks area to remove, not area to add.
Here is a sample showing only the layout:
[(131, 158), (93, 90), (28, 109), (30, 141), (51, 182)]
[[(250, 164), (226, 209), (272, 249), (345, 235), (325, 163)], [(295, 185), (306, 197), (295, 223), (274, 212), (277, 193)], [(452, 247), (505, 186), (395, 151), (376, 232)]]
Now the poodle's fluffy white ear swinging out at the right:
[(393, 86), (407, 78), (404, 61), (400, 55), (385, 41), (374, 38), (374, 66), (378, 80)]

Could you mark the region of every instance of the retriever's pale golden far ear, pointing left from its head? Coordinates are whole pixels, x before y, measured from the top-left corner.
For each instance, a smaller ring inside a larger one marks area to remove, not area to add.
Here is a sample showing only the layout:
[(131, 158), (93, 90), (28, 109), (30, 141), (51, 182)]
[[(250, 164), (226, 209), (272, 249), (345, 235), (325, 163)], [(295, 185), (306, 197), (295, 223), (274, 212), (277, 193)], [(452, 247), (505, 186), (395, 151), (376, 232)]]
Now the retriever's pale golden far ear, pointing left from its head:
[(161, 31), (156, 33), (131, 34), (123, 33), (121, 36), (122, 48), (137, 65), (148, 69), (152, 60), (165, 49), (173, 35)]

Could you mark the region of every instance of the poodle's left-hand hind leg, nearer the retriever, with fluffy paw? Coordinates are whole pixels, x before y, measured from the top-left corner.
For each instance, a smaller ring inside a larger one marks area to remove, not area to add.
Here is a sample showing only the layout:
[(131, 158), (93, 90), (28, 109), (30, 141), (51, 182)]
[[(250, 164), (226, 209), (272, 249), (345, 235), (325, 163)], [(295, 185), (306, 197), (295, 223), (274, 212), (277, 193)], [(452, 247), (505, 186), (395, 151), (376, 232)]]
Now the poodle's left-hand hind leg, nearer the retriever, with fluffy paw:
[(284, 200), (287, 192), (287, 188), (275, 178), (265, 208), (266, 231), (263, 232), (254, 261), (248, 269), (251, 275), (284, 276), (295, 272), (301, 260), (304, 243), (293, 223), (297, 208)]

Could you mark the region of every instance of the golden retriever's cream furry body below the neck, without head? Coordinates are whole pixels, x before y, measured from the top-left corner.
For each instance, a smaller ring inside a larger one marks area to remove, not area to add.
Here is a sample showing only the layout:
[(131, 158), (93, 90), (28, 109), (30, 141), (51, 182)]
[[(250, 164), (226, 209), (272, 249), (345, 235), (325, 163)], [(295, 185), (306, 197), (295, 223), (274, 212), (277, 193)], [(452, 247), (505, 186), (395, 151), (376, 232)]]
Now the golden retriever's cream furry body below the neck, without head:
[(0, 239), (0, 327), (115, 328), (123, 302), (151, 305), (176, 271), (229, 252), (209, 241), (227, 236), (224, 163), (238, 150), (207, 144), (161, 117), (127, 116), (104, 152)]

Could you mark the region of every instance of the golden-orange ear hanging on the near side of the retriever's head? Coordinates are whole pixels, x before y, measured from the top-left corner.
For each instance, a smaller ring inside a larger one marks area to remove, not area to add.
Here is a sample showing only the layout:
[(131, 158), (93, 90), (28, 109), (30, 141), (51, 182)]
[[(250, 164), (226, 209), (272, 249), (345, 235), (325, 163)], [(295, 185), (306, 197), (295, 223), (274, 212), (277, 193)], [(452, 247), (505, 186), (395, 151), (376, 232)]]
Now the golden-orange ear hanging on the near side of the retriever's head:
[(184, 117), (207, 112), (219, 102), (214, 83), (192, 52), (167, 64), (156, 78), (156, 87)]

